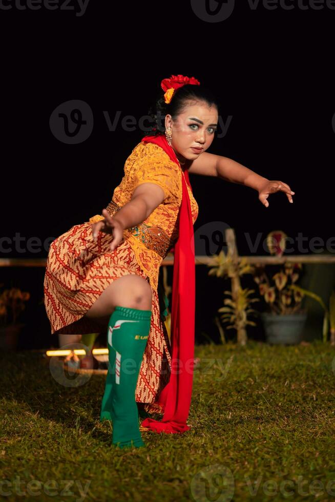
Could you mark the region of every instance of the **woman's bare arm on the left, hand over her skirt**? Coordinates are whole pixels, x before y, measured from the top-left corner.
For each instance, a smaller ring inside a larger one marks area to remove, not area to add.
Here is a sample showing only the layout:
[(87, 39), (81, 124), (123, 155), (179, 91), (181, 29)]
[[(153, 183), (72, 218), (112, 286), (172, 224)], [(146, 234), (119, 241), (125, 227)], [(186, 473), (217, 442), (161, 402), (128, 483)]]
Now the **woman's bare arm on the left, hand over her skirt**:
[(104, 220), (92, 223), (93, 239), (96, 242), (99, 231), (113, 235), (111, 250), (122, 241), (123, 231), (141, 224), (159, 204), (164, 200), (164, 191), (156, 183), (142, 183), (138, 185), (129, 202), (124, 204), (114, 216), (110, 216), (106, 209), (102, 210)]

